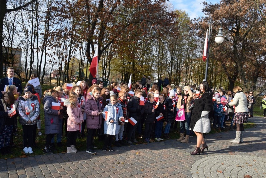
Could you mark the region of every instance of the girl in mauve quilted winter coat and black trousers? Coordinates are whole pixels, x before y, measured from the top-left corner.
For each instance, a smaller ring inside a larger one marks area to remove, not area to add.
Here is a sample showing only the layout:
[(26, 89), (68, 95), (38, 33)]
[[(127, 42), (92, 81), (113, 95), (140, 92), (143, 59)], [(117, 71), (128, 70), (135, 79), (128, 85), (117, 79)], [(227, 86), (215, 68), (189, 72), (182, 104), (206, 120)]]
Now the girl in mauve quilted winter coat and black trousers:
[(102, 111), (104, 105), (102, 102), (101, 89), (94, 88), (92, 91), (92, 96), (89, 96), (85, 104), (85, 113), (86, 113), (86, 122), (87, 122), (87, 153), (95, 154), (96, 151), (94, 148), (97, 148), (93, 145), (93, 137), (95, 136), (96, 129), (101, 128)]

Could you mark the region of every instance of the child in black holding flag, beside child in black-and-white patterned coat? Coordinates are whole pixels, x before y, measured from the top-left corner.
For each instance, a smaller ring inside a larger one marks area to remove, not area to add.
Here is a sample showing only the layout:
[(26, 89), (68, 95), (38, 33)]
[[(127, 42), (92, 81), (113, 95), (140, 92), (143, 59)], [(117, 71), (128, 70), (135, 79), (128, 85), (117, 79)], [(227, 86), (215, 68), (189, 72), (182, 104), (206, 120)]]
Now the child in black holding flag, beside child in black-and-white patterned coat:
[[(165, 100), (165, 96), (164, 95), (159, 95), (159, 104), (157, 106), (157, 108), (155, 109), (155, 117), (156, 117), (156, 121), (155, 121), (155, 129), (154, 129), (154, 133), (155, 133), (155, 140), (156, 141), (161, 141), (164, 140), (161, 137), (162, 135), (162, 130), (163, 130), (163, 125), (164, 125), (164, 121), (166, 119), (166, 105), (164, 103)], [(156, 107), (156, 106), (155, 106)]]

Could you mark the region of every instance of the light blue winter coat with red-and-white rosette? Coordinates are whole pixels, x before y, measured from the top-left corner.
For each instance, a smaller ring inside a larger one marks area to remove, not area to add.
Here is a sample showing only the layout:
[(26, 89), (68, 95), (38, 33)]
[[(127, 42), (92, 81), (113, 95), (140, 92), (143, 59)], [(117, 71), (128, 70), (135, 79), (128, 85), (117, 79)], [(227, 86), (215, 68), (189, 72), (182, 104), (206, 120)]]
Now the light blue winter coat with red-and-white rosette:
[[(116, 109), (118, 108), (118, 110)], [(121, 117), (123, 117), (123, 110), (121, 107), (121, 104), (116, 103), (114, 105), (112, 105), (111, 103), (108, 103), (104, 110), (103, 110), (103, 118), (105, 119), (105, 111), (109, 111), (108, 112), (108, 118), (106, 121), (104, 121), (104, 133), (108, 134), (108, 135), (116, 135), (119, 132), (120, 129), (120, 125), (119, 125), (119, 120), (121, 119)], [(113, 122), (111, 123), (110, 121), (114, 120), (117, 122)]]

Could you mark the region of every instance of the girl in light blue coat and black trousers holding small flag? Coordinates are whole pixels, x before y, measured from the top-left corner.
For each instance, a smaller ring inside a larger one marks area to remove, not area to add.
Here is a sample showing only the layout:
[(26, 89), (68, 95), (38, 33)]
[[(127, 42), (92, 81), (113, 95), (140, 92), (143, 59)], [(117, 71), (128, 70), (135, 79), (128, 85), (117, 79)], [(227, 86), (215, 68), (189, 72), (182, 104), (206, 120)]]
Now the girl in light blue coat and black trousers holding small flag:
[(113, 94), (110, 99), (110, 103), (108, 103), (103, 110), (103, 117), (105, 118), (104, 133), (106, 136), (104, 146), (101, 149), (102, 151), (106, 151), (107, 148), (109, 151), (114, 151), (111, 145), (114, 135), (118, 134), (120, 130), (118, 122), (124, 120), (121, 104), (117, 103), (117, 96)]

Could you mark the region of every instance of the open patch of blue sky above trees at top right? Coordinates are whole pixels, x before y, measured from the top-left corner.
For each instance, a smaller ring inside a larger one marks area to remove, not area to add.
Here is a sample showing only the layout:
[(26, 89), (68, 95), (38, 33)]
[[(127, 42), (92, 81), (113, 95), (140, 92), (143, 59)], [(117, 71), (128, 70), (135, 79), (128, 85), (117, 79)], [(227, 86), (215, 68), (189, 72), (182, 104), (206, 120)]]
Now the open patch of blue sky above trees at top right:
[(190, 19), (194, 19), (204, 16), (202, 13), (204, 1), (212, 4), (220, 2), (219, 0), (169, 0), (169, 3), (173, 4), (174, 9), (185, 10)]

